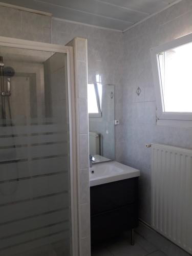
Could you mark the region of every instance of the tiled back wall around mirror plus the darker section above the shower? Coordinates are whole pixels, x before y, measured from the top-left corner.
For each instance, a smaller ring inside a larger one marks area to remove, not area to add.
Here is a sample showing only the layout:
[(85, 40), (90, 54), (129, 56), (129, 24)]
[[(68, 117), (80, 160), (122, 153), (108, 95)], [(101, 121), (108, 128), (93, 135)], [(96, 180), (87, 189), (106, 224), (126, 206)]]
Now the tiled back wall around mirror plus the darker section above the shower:
[[(6, 22), (5, 22), (6, 20)], [(51, 17), (0, 6), (0, 36), (66, 45), (75, 37), (88, 39), (88, 82), (96, 75), (103, 84), (115, 85), (116, 159), (121, 161), (123, 34), (52, 20)]]

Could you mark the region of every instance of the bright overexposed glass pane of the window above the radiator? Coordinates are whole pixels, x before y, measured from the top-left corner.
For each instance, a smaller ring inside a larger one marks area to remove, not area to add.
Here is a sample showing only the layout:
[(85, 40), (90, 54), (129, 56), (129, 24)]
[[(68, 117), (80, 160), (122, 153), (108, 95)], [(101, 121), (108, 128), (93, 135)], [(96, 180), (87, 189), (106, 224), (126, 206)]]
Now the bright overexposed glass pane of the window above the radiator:
[(159, 53), (163, 112), (192, 112), (192, 43)]

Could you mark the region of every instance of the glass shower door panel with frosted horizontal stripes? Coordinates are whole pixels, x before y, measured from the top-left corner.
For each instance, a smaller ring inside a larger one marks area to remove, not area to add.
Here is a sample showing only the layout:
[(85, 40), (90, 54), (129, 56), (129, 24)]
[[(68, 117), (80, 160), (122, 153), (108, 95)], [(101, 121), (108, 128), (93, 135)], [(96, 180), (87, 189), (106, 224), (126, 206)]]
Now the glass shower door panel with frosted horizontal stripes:
[(0, 255), (71, 255), (67, 55), (0, 47)]

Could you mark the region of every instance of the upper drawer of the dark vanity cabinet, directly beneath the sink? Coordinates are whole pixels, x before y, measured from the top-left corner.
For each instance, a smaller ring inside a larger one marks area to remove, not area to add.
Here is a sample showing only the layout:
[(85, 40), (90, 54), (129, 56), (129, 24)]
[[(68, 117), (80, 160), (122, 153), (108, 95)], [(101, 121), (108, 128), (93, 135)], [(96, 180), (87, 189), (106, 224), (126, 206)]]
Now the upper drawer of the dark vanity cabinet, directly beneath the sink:
[(137, 201), (138, 177), (90, 188), (91, 215), (116, 209)]

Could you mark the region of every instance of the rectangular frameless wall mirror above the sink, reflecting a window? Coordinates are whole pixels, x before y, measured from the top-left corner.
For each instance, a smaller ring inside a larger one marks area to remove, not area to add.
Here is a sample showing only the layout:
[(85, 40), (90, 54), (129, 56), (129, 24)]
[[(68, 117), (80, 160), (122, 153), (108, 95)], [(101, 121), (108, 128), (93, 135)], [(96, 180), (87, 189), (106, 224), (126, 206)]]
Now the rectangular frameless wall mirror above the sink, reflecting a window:
[(92, 163), (115, 159), (114, 86), (88, 84), (89, 148)]

